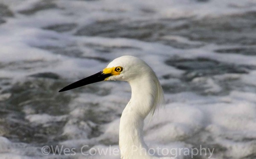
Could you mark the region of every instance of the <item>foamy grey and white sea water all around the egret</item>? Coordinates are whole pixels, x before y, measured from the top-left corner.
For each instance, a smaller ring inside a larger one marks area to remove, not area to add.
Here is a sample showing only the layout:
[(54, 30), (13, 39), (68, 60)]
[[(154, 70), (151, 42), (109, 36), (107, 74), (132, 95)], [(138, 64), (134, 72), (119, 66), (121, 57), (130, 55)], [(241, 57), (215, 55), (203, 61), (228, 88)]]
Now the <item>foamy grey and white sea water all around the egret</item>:
[(58, 90), (122, 55), (145, 60), (165, 92), (150, 148), (256, 158), (255, 0), (0, 0), (0, 158), (118, 159), (79, 148), (118, 148), (129, 85)]

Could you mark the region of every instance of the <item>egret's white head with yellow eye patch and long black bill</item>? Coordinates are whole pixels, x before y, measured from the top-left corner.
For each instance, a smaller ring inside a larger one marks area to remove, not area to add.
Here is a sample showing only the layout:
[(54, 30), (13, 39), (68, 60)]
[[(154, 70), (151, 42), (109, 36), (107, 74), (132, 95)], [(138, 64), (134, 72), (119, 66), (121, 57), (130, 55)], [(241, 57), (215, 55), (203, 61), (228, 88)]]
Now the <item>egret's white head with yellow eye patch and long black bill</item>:
[(133, 56), (122, 56), (110, 62), (103, 71), (67, 85), (59, 92), (104, 80), (122, 80), (129, 82), (150, 72), (153, 72), (152, 69), (143, 60)]

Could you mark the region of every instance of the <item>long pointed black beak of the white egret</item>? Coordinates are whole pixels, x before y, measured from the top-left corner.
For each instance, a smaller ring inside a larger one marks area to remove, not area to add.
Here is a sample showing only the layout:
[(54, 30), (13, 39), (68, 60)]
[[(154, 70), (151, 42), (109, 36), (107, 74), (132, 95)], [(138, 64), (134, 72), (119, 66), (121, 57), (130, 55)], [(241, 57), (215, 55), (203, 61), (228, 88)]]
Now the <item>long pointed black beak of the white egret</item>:
[(70, 89), (78, 88), (84, 85), (89, 85), (91, 83), (100, 82), (105, 80), (107, 77), (110, 77), (112, 74), (104, 74), (102, 71), (98, 72), (97, 74), (93, 74), (89, 77), (86, 77), (82, 80), (76, 81), (66, 87), (62, 88), (59, 92), (68, 91)]

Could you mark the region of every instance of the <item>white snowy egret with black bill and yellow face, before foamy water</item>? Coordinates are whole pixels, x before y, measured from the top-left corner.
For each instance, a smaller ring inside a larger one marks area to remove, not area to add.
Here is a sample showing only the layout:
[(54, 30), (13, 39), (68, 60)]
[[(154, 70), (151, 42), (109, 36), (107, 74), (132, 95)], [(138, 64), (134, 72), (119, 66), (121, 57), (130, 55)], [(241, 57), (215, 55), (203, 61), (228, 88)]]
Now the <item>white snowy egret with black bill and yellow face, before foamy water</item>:
[(131, 85), (131, 99), (120, 119), (121, 158), (157, 159), (156, 156), (149, 155), (143, 140), (145, 117), (148, 114), (153, 116), (160, 105), (164, 104), (163, 89), (154, 71), (137, 57), (122, 56), (110, 62), (103, 71), (74, 82), (60, 92), (103, 80), (127, 81)]

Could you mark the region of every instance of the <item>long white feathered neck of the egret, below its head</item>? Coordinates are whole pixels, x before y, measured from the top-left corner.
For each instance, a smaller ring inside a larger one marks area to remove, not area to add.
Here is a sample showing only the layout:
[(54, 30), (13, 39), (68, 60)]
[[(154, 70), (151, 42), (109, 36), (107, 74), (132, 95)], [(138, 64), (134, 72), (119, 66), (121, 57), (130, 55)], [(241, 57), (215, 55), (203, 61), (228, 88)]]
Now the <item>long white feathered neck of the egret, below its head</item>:
[(126, 105), (119, 129), (119, 147), (122, 159), (151, 159), (143, 140), (143, 122), (145, 117), (163, 104), (163, 90), (155, 76), (145, 75), (129, 81), (131, 100)]

